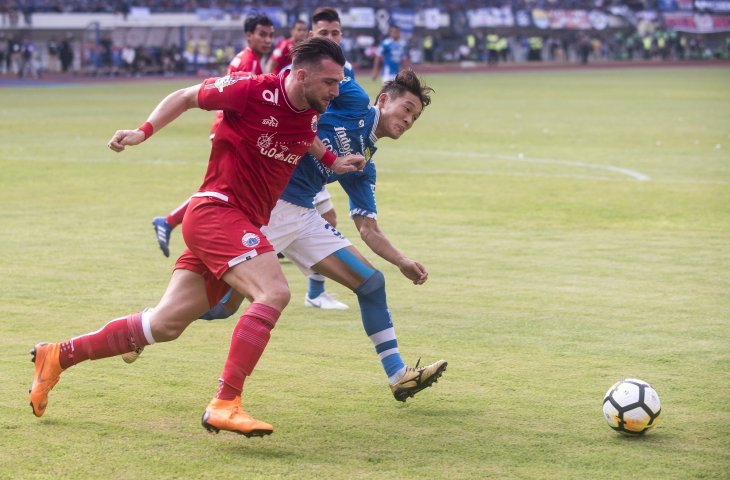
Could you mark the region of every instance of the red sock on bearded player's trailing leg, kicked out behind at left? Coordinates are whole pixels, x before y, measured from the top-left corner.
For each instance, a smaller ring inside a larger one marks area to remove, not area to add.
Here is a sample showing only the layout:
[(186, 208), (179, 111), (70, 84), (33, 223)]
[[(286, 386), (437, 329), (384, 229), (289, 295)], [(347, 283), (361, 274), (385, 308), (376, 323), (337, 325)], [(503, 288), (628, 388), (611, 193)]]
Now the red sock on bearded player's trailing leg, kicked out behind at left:
[(61, 343), (61, 367), (84, 360), (113, 357), (149, 345), (142, 329), (142, 313), (117, 318), (95, 332)]

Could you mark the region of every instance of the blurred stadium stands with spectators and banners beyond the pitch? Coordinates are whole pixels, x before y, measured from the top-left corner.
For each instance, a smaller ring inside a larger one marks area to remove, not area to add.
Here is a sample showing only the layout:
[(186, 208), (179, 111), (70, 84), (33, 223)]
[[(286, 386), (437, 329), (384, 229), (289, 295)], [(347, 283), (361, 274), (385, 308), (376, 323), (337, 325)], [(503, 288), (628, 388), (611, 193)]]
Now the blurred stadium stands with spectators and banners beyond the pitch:
[[(263, 13), (285, 37), (312, 0), (0, 0), (0, 74), (216, 74)], [(398, 25), (413, 64), (730, 58), (727, 0), (340, 0), (343, 50), (370, 68)]]

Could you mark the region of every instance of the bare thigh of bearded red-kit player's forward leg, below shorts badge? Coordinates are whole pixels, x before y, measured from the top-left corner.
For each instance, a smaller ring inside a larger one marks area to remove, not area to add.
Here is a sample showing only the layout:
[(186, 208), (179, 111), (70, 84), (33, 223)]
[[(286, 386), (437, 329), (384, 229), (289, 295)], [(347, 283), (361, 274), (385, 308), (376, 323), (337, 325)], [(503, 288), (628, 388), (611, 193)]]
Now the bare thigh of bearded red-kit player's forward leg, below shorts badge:
[(234, 265), (223, 274), (223, 280), (252, 303), (264, 303), (279, 311), (289, 303), (289, 284), (273, 251)]

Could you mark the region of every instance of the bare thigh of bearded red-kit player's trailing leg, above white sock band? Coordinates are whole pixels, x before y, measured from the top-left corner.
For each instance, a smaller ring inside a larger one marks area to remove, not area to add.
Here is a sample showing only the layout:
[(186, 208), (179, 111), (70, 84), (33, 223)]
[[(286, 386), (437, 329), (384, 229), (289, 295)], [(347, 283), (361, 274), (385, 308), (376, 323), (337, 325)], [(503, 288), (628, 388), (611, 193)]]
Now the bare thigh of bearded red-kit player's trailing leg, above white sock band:
[(153, 338), (174, 340), (209, 308), (203, 277), (190, 270), (175, 270), (165, 294), (150, 312)]

